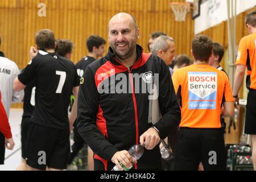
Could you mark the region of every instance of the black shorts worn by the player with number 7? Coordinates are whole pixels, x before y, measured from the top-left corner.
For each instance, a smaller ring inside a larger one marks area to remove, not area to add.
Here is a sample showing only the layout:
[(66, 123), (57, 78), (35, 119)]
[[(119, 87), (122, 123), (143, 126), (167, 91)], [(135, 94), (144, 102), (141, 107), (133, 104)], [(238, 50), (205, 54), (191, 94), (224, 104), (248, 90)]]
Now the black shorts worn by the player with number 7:
[(54, 129), (31, 122), (28, 126), (26, 157), (28, 166), (45, 170), (67, 168), (69, 130)]

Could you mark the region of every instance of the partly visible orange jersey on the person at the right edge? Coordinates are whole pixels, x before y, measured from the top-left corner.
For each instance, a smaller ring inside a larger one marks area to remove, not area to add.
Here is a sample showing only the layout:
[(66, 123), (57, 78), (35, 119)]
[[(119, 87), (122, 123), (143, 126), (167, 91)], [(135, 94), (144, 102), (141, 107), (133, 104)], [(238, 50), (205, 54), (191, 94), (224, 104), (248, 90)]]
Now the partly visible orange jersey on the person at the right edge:
[(256, 89), (256, 32), (240, 40), (236, 64), (246, 65), (246, 87)]

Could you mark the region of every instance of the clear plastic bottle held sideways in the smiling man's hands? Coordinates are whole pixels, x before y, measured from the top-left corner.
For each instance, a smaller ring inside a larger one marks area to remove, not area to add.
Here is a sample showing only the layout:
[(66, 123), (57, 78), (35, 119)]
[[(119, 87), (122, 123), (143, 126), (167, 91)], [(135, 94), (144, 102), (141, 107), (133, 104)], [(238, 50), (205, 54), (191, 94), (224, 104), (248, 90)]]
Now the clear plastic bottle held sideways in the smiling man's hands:
[[(141, 144), (135, 144), (133, 146), (131, 146), (131, 148), (128, 150), (129, 154), (135, 159), (135, 160), (139, 160), (141, 158), (141, 156), (143, 155), (144, 152), (144, 146), (142, 146)], [(120, 163), (120, 166), (122, 166), (123, 171), (129, 171), (132, 167), (130, 168), (126, 168), (125, 165), (123, 165), (122, 163)], [(112, 171), (121, 171), (117, 165), (115, 165), (112, 169)]]

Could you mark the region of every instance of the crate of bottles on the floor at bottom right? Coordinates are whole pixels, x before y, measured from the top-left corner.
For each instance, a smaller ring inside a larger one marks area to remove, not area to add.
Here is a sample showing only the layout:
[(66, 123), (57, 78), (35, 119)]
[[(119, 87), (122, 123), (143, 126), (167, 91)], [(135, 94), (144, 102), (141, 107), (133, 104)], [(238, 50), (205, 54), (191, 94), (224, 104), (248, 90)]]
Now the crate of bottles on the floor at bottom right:
[(230, 171), (252, 171), (251, 147), (241, 145), (229, 146), (228, 166)]

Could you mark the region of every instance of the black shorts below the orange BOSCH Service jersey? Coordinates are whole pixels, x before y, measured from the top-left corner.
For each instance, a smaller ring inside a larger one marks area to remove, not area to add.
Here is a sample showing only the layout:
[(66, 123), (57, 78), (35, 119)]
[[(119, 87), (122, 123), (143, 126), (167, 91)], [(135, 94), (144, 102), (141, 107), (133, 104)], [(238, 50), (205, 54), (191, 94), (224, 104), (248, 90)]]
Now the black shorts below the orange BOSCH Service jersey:
[(205, 171), (226, 169), (224, 135), (221, 129), (182, 128), (179, 131), (175, 169), (197, 171), (202, 162)]

